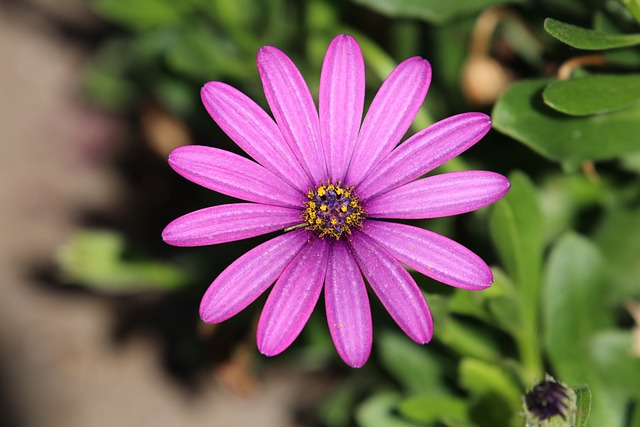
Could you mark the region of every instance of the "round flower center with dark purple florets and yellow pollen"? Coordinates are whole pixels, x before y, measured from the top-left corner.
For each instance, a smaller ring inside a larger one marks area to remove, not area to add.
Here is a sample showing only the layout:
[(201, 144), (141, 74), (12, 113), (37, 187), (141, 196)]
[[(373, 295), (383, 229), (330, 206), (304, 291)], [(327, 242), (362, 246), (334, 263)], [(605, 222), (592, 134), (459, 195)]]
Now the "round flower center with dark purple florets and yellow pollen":
[(361, 227), (364, 210), (353, 194), (353, 186), (343, 187), (340, 183), (320, 185), (307, 193), (308, 202), (304, 210), (307, 230), (313, 230), (320, 237), (331, 236), (336, 240), (343, 234), (351, 234), (351, 227)]

